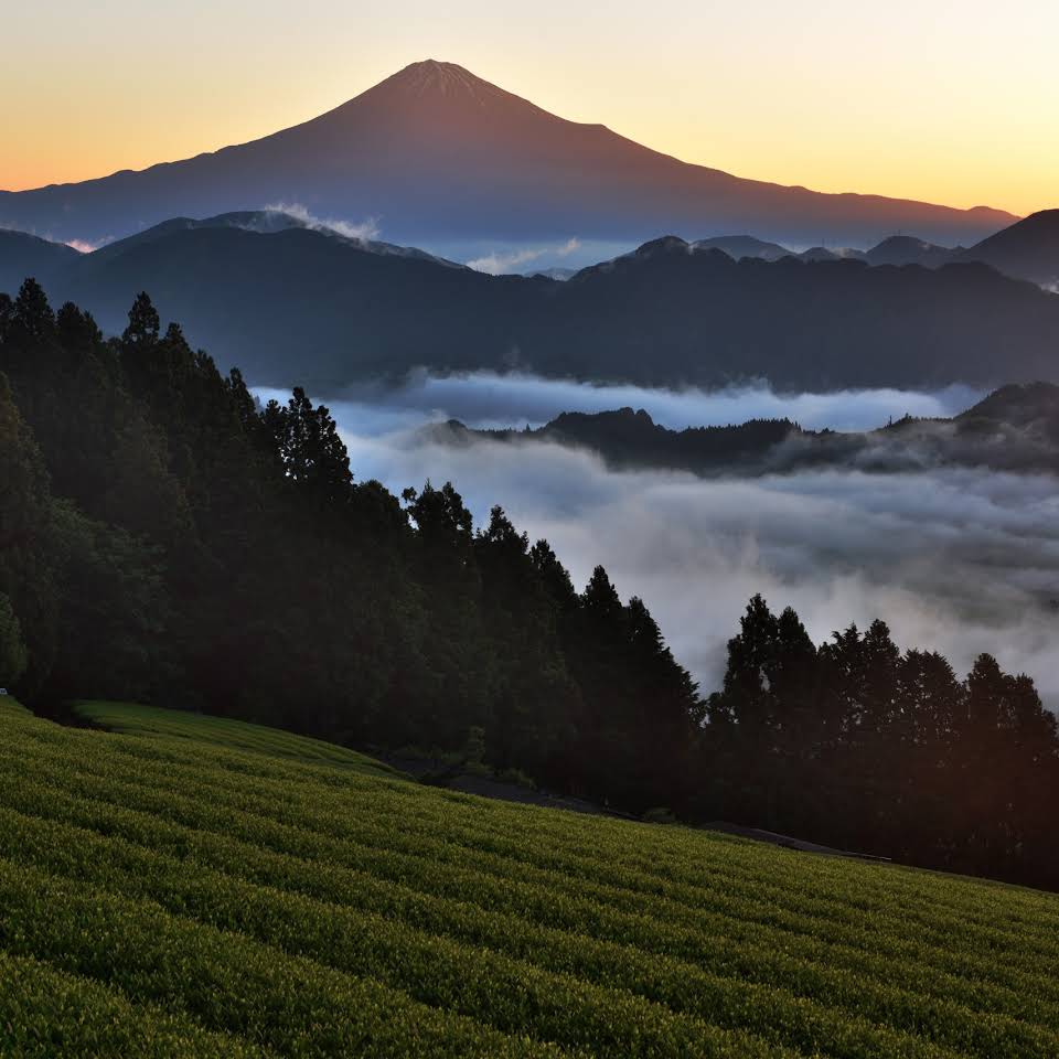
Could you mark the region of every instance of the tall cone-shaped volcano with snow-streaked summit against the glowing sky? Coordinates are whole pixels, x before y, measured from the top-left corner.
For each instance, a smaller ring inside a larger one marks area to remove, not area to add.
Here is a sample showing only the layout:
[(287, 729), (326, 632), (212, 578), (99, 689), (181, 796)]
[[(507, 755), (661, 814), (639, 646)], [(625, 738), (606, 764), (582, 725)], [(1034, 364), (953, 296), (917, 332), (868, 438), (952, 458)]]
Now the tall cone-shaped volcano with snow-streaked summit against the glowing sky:
[(805, 245), (870, 245), (912, 229), (939, 242), (1015, 218), (877, 195), (744, 180), (568, 121), (432, 60), (328, 114), (259, 140), (97, 180), (0, 193), (0, 226), (96, 243), (174, 214), (297, 202), (378, 218), (398, 243), (578, 236), (639, 242), (665, 231), (753, 231)]

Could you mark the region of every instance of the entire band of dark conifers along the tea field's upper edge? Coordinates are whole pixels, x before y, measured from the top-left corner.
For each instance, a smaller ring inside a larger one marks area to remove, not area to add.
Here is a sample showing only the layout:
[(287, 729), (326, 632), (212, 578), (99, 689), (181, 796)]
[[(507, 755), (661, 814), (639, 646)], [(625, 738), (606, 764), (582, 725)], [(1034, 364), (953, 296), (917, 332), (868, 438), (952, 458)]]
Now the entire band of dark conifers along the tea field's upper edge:
[(961, 681), (881, 622), (817, 646), (755, 598), (702, 697), (601, 567), (578, 592), (499, 509), (475, 532), (449, 484), (354, 482), (327, 408), (261, 409), (146, 295), (109, 341), (35, 282), (0, 296), (0, 685), (473, 753), (632, 812), (1059, 888), (1029, 677), (982, 655)]

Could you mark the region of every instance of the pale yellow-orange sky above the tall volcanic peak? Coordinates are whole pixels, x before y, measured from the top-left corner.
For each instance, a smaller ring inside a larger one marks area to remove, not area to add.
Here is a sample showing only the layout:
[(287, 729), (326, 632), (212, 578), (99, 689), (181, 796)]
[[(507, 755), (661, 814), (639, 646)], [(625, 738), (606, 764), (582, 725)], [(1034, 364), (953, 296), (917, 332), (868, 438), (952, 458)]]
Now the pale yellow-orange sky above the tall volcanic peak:
[(1055, 0), (36, 0), (3, 38), (0, 189), (244, 142), (430, 57), (741, 176), (1059, 205)]

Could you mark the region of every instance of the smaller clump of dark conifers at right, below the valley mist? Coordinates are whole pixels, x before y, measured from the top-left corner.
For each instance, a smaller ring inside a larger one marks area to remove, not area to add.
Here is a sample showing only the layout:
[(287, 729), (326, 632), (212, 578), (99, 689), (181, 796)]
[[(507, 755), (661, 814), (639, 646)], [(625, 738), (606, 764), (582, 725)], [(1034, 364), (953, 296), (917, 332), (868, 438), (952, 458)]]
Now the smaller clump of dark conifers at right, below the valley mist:
[(988, 654), (961, 681), (881, 621), (817, 648), (755, 597), (707, 715), (700, 814), (1059, 887), (1056, 718)]

